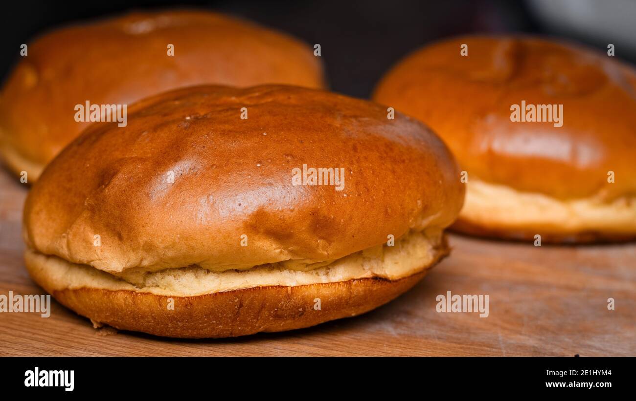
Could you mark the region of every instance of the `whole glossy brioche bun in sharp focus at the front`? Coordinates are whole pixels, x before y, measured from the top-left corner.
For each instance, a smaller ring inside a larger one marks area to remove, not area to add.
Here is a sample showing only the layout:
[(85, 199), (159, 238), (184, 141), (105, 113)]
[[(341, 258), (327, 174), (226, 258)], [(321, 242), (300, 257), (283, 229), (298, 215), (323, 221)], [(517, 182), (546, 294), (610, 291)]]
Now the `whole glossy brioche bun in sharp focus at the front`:
[[(342, 190), (292, 185), (303, 164), (345, 169)], [(382, 305), (448, 253), (458, 177), (423, 124), (372, 102), (293, 86), (176, 89), (130, 107), (126, 127), (93, 124), (46, 167), (25, 202), (25, 260), (64, 305), (121, 329), (307, 327)], [(272, 278), (287, 285), (263, 284)]]

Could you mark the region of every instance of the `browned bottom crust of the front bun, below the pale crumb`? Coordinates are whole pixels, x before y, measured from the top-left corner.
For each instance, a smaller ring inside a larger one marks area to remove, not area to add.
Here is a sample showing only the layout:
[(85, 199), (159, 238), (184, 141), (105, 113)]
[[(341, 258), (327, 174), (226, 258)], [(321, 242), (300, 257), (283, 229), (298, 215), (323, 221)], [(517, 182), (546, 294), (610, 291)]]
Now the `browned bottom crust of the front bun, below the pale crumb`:
[[(440, 249), (439, 258), (448, 254)], [(357, 279), (305, 286), (267, 286), (188, 297), (100, 288), (57, 289), (46, 268), (27, 269), (39, 286), (93, 324), (175, 338), (221, 338), (275, 332), (352, 317), (408, 291), (426, 270), (399, 280)], [(424, 266), (430, 268), (432, 266)], [(169, 298), (174, 310), (169, 310)], [(316, 310), (316, 298), (320, 310)]]

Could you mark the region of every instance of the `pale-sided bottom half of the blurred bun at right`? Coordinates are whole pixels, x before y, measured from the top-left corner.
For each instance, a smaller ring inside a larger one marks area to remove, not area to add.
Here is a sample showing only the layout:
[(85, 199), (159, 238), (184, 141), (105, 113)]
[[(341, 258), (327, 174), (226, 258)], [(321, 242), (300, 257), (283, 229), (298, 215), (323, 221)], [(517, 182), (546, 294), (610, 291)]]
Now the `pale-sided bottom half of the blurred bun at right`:
[(636, 239), (636, 197), (560, 200), (471, 179), (466, 202), (450, 227), (481, 237), (577, 244)]

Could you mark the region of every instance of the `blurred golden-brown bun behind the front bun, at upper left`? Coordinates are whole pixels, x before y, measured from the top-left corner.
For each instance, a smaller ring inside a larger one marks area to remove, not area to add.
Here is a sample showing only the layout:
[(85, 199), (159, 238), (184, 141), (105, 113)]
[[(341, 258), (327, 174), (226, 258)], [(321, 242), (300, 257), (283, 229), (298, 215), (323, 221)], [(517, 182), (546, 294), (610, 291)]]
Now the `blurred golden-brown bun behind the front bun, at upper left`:
[[(174, 56), (167, 46), (174, 45)], [(88, 122), (84, 104), (129, 104), (198, 84), (324, 87), (312, 48), (205, 11), (130, 13), (55, 30), (29, 44), (0, 92), (0, 154), (35, 181)]]

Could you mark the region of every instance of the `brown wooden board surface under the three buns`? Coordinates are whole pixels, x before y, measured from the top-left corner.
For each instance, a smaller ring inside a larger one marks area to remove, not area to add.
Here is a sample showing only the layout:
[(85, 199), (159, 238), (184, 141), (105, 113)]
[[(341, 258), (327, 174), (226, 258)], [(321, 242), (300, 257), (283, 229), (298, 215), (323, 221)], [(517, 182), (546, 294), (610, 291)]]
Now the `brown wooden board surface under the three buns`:
[[(43, 293), (22, 261), (28, 189), (0, 170), (0, 294)], [(636, 244), (450, 242), (451, 256), (411, 291), (360, 317), (191, 341), (97, 331), (53, 302), (48, 318), (0, 313), (0, 355), (636, 355)], [(436, 312), (436, 296), (447, 291), (487, 294), (489, 316)]]

